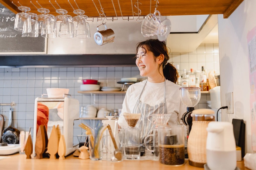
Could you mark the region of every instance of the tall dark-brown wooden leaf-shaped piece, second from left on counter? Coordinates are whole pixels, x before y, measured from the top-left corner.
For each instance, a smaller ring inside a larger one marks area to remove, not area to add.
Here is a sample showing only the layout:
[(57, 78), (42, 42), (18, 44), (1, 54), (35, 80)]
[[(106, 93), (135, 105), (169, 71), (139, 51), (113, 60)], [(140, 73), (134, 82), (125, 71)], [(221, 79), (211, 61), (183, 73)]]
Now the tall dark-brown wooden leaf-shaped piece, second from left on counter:
[(42, 159), (45, 151), (45, 131), (44, 125), (40, 125), (36, 135), (36, 159)]

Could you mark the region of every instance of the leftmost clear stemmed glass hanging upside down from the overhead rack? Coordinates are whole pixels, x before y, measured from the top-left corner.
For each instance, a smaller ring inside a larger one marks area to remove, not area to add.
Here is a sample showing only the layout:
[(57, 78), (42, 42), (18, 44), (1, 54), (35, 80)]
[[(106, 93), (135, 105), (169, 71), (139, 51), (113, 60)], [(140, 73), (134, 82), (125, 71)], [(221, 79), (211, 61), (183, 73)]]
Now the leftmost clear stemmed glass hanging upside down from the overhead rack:
[(22, 12), (16, 14), (14, 30), (23, 33), (31, 32), (31, 17), (29, 14), (26, 13), (27, 11), (30, 11), (30, 8), (25, 6), (19, 6), (18, 9)]

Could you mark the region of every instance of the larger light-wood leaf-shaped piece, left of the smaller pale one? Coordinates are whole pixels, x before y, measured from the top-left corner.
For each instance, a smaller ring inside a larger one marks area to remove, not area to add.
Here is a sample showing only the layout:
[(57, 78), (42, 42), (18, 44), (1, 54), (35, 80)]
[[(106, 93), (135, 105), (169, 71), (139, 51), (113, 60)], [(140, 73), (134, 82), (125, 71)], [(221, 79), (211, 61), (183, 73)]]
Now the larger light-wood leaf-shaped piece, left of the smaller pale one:
[(50, 159), (56, 159), (56, 153), (58, 152), (58, 133), (55, 125), (53, 125), (51, 130), (51, 135), (48, 141), (47, 151), (50, 154)]

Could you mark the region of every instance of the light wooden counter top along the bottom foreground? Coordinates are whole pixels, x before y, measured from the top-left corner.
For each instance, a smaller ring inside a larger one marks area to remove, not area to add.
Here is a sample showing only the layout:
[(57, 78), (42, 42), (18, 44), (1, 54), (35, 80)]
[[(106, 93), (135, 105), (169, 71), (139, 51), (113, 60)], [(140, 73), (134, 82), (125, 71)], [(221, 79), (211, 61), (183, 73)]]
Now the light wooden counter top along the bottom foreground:
[[(6, 156), (6, 159), (0, 159), (0, 169), (19, 169), (19, 170), (161, 170), (161, 169), (172, 169), (172, 170), (203, 170), (204, 168), (198, 168), (190, 166), (188, 160), (185, 161), (183, 166), (170, 166), (159, 163), (158, 161), (130, 161), (124, 160), (122, 162), (110, 162), (106, 160), (92, 161), (90, 159), (81, 160), (78, 157), (74, 157), (72, 154), (67, 156), (64, 160), (50, 160), (44, 159), (26, 159), (25, 154), (15, 154)], [(237, 166), (241, 170), (249, 170), (244, 167), (243, 161), (238, 161)]]

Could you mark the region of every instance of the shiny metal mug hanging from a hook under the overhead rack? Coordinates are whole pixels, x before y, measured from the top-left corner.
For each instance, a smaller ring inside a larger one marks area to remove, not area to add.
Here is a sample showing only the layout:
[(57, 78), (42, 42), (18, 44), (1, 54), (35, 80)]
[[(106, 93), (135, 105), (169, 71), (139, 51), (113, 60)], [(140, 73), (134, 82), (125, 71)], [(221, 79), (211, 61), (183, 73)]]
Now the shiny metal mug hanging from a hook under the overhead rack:
[[(99, 31), (99, 26), (104, 25), (105, 30)], [(106, 24), (101, 24), (97, 26), (97, 32), (94, 33), (94, 40), (95, 43), (99, 46), (107, 44), (107, 43), (113, 43), (115, 38), (115, 33), (113, 30), (108, 29)]]

